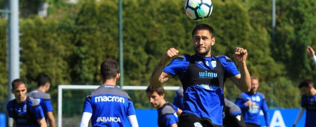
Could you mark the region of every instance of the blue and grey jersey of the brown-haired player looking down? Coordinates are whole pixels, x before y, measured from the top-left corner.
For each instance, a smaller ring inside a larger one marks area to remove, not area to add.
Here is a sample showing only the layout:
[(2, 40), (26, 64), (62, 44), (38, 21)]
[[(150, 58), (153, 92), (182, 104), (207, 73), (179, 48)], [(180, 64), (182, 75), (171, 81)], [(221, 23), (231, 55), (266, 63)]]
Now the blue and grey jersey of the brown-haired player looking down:
[(158, 126), (170, 127), (172, 124), (178, 124), (179, 118), (177, 115), (178, 107), (167, 102), (158, 110)]

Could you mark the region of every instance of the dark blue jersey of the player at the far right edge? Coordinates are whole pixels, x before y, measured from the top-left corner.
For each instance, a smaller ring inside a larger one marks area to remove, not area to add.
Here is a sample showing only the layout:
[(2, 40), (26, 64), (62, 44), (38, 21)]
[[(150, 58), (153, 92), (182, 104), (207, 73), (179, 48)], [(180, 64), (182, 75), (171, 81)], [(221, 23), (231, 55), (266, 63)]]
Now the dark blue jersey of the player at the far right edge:
[(306, 108), (305, 127), (316, 126), (316, 95), (302, 95), (301, 107)]

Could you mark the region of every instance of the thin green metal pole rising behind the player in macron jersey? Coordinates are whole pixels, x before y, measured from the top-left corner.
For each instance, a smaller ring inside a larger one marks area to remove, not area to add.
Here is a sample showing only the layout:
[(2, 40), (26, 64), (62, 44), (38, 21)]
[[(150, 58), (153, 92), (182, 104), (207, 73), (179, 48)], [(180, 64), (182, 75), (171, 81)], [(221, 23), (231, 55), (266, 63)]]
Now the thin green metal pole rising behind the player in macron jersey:
[(123, 88), (124, 85), (124, 62), (123, 62), (123, 15), (122, 0), (119, 0), (119, 71), (121, 73), (120, 77), (120, 87)]

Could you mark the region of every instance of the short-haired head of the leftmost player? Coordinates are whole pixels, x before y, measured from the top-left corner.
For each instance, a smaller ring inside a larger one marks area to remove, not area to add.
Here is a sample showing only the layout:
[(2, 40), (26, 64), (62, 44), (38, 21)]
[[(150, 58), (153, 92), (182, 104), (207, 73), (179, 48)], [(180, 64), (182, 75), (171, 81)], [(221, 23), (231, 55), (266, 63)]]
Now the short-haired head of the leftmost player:
[(11, 83), (11, 93), (14, 94), (15, 100), (18, 102), (24, 102), (26, 99), (26, 85), (22, 79), (15, 79)]

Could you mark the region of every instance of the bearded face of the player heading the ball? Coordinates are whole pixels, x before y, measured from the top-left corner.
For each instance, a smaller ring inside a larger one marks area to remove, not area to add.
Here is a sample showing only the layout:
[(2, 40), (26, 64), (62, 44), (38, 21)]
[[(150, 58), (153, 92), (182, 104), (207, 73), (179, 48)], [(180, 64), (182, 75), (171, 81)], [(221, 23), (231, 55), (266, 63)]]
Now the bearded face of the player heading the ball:
[(208, 30), (197, 30), (193, 35), (193, 48), (198, 56), (209, 56), (211, 54), (211, 46), (215, 43)]

